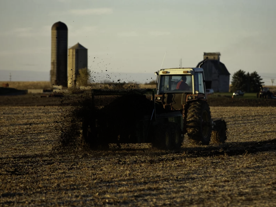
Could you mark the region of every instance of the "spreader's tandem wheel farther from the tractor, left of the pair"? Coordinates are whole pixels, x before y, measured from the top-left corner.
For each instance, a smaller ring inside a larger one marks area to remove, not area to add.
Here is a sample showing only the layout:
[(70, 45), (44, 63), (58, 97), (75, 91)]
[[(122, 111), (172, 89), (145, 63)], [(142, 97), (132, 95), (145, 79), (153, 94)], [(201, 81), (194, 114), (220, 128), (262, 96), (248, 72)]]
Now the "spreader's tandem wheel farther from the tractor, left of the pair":
[(153, 145), (161, 150), (172, 150), (172, 132), (170, 124), (163, 124), (155, 131), (155, 140)]

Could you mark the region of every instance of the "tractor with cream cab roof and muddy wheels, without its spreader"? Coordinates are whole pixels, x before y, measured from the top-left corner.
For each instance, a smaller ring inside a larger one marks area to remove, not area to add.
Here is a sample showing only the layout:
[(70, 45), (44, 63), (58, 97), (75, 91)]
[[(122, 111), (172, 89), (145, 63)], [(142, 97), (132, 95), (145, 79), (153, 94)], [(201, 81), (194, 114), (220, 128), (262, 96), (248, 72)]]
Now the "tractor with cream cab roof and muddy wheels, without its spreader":
[(196, 144), (208, 145), (211, 135), (219, 143), (227, 138), (226, 122), (211, 118), (202, 68), (160, 70), (155, 102), (166, 111), (181, 112), (182, 133)]

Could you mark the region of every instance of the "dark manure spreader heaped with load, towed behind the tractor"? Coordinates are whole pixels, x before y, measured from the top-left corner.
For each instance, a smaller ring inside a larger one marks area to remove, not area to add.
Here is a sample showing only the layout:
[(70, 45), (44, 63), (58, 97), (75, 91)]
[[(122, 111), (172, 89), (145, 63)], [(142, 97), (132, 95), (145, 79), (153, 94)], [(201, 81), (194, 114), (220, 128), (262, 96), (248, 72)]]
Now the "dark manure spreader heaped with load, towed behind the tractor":
[[(92, 90), (92, 111), (82, 123), (84, 140), (91, 148), (109, 143), (153, 143), (177, 149), (182, 143), (180, 111), (155, 108), (156, 89)], [(95, 102), (97, 99), (100, 106)], [(110, 100), (110, 101), (109, 101)]]

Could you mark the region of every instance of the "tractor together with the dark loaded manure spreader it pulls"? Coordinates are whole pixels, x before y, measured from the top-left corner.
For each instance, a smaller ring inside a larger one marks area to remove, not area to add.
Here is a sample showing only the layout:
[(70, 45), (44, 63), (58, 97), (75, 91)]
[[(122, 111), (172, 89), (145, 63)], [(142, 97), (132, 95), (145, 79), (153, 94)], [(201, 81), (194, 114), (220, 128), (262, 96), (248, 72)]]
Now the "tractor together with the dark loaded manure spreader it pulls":
[(170, 68), (155, 72), (157, 89), (92, 89), (90, 113), (82, 135), (91, 148), (109, 143), (152, 143), (175, 150), (184, 135), (195, 144), (224, 143), (226, 122), (213, 121), (202, 68)]

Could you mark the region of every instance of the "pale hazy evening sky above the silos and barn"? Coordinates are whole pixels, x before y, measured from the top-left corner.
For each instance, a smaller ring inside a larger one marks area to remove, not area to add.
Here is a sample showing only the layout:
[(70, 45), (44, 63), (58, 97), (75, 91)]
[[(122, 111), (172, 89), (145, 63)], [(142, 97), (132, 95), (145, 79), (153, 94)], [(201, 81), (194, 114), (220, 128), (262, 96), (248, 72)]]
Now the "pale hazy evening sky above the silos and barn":
[[(51, 27), (88, 49), (92, 71), (195, 67), (220, 52), (233, 75), (276, 78), (275, 0), (0, 0), (0, 70), (50, 71)], [(94, 59), (94, 57), (96, 57)], [(94, 62), (93, 62), (94, 61)], [(270, 83), (271, 84), (271, 83)]]

